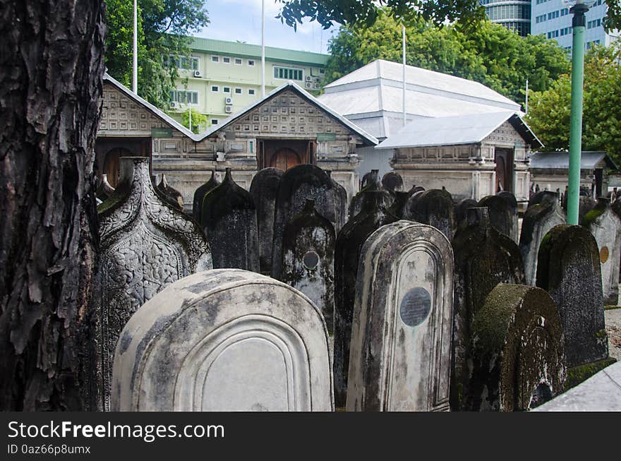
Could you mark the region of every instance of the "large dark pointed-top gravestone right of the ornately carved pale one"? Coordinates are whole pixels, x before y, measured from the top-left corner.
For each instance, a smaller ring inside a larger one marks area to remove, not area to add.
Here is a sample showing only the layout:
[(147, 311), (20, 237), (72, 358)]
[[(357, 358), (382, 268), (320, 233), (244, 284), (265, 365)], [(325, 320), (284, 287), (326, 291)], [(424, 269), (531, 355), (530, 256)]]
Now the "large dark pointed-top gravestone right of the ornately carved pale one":
[(250, 193), (233, 180), (230, 168), (222, 184), (203, 199), (200, 220), (214, 268), (259, 271), (257, 210)]

